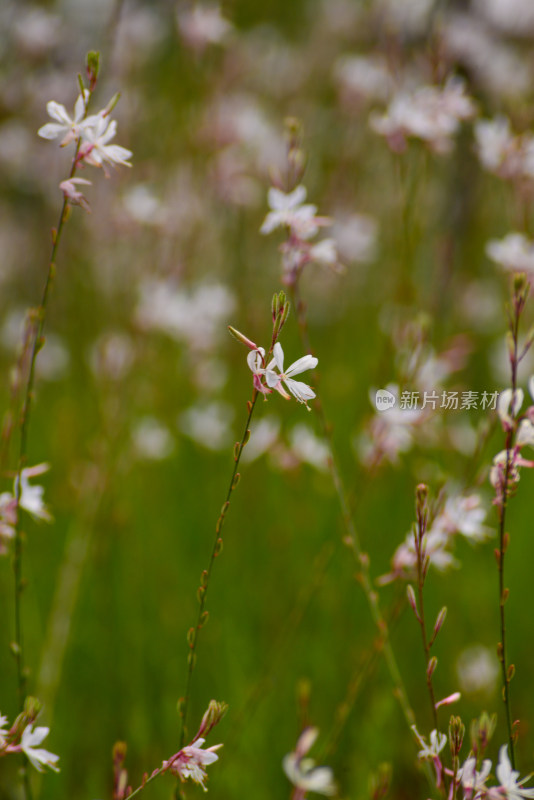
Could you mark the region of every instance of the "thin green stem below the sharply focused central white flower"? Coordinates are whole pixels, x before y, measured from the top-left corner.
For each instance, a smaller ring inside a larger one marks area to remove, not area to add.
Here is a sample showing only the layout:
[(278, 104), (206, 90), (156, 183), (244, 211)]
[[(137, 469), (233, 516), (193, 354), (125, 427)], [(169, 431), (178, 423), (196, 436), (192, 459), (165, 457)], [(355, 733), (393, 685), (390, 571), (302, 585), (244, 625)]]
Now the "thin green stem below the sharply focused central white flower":
[(211, 549), (211, 556), (208, 564), (207, 570), (204, 570), (201, 576), (201, 585), (198, 589), (198, 613), (197, 613), (197, 620), (196, 625), (194, 628), (191, 628), (189, 631), (189, 655), (187, 658), (187, 679), (186, 679), (186, 686), (185, 686), (185, 693), (182, 698), (181, 708), (180, 708), (180, 716), (182, 721), (182, 730), (180, 735), (180, 747), (183, 747), (185, 744), (185, 737), (187, 732), (187, 711), (189, 707), (189, 698), (191, 694), (191, 683), (193, 679), (193, 671), (195, 669), (195, 661), (196, 661), (196, 654), (197, 654), (197, 647), (198, 647), (198, 639), (200, 635), (200, 631), (204, 626), (206, 621), (205, 615), (205, 607), (206, 607), (206, 599), (208, 596), (208, 588), (211, 579), (211, 574), (213, 571), (213, 567), (215, 564), (215, 559), (219, 555), (221, 548), (222, 548), (222, 538), (221, 538), (221, 531), (223, 525), (226, 520), (226, 514), (230, 507), (230, 501), (232, 498), (232, 494), (234, 489), (236, 488), (239, 482), (239, 462), (241, 461), (241, 455), (243, 453), (243, 449), (245, 444), (248, 441), (250, 436), (250, 422), (252, 420), (252, 415), (254, 413), (254, 408), (256, 406), (256, 400), (258, 399), (258, 391), (254, 389), (252, 400), (248, 403), (248, 417), (245, 423), (245, 428), (243, 431), (243, 435), (241, 437), (241, 441), (238, 442), (234, 449), (234, 469), (232, 471), (232, 477), (230, 478), (230, 483), (228, 486), (228, 491), (226, 493), (226, 499), (224, 501), (223, 507), (221, 509), (221, 513), (217, 520), (217, 524), (215, 525), (215, 537), (213, 540), (213, 546)]

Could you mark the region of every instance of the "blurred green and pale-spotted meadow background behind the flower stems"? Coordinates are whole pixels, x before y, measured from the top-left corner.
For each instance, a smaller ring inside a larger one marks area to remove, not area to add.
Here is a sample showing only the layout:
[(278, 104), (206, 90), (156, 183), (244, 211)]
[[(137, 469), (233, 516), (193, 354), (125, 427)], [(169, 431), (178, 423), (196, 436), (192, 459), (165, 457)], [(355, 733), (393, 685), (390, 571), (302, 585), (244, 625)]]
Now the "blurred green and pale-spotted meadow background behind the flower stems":
[[(481, 169), (471, 124), (447, 155), (417, 142), (399, 155), (368, 120), (405, 80), (455, 73), (480, 116), (505, 113), (528, 130), (534, 15), (519, 0), (506, 14), (505, 7), (233, 0), (206, 12), (200, 3), (195, 10), (174, 2), (3, 0), (3, 408), (70, 165), (57, 142), (36, 132), (47, 101), (72, 108), (89, 49), (102, 54), (96, 103), (121, 92), (117, 142), (134, 153), (132, 169), (108, 180), (84, 174), (93, 181), (92, 213), (75, 208), (69, 219), (39, 357), (29, 461), (50, 464), (42, 482), (55, 521), (25, 522), (24, 626), (29, 688), (45, 705), (46, 745), (61, 756), (59, 775), (35, 781), (43, 800), (110, 797), (117, 740), (128, 743), (133, 785), (178, 749), (186, 632), (251, 393), (246, 353), (226, 326), (259, 343), (269, 338), (283, 234), (264, 237), (259, 228), (272, 171), (285, 163), (286, 117), (302, 124), (303, 182), (334, 220), (346, 266), (341, 275), (310, 265), (301, 288), (319, 358), (313, 382), (373, 578), (390, 571), (410, 529), (418, 482), (433, 497), (444, 486), (480, 491), (496, 528), (487, 472), (503, 435), (493, 415), (436, 413), (408, 432), (396, 457), (371, 467), (369, 392), (406, 388), (414, 353), (431, 387), (493, 392), (509, 384), (509, 276), (485, 247), (519, 224), (528, 229), (528, 209), (514, 187)], [(302, 355), (294, 316), (283, 344), (289, 363)], [(451, 348), (461, 357), (444, 374), (439, 359)], [(528, 359), (523, 366), (524, 386), (532, 370)], [(281, 760), (305, 722), (321, 730), (317, 757), (333, 767), (342, 797), (368, 796), (370, 775), (384, 762), (393, 766), (393, 797), (428, 796), (388, 674), (380, 659), (368, 666), (376, 631), (342, 542), (316, 416), (271, 397), (258, 404), (249, 448), (210, 586), (190, 709), (194, 728), (212, 697), (230, 705), (210, 742), (225, 743), (210, 768), (212, 796), (289, 796)], [(522, 774), (533, 756), (532, 480), (525, 471), (510, 508), (507, 562)], [(430, 573), (427, 606), (431, 619), (442, 605), (449, 609), (436, 645), (437, 693), (462, 689), (454, 710), (466, 724), (484, 709), (497, 712), (496, 756), (505, 726), (492, 679), (494, 546), (459, 541), (458, 567)], [(0, 593), (0, 709), (11, 719), (9, 555), (0, 562)], [(404, 597), (404, 583), (381, 590), (383, 608), (396, 615), (400, 670), (428, 733), (422, 645)], [(473, 646), (484, 648), (483, 663), (470, 682), (459, 664), (472, 663)], [(446, 726), (446, 711), (441, 719)], [(18, 796), (9, 759), (0, 775), (1, 796)], [(173, 789), (164, 778), (146, 796)]]

